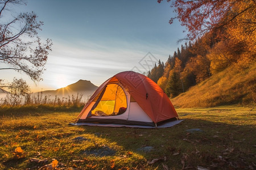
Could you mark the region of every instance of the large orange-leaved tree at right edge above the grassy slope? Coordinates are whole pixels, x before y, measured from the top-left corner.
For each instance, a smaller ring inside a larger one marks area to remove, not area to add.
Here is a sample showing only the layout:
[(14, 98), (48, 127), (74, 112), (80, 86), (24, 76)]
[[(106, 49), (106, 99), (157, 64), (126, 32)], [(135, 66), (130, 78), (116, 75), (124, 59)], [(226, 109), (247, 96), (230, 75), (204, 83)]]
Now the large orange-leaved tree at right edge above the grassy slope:
[[(210, 50), (211, 71), (218, 73), (229, 65), (246, 68), (256, 58), (256, 8), (253, 1), (238, 1), (230, 11), (234, 24), (226, 27), (220, 42)], [(228, 16), (227, 16), (228, 18)]]

